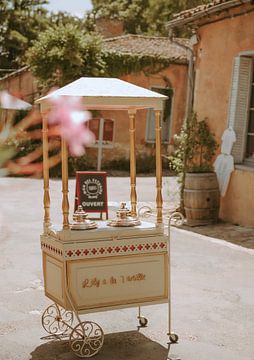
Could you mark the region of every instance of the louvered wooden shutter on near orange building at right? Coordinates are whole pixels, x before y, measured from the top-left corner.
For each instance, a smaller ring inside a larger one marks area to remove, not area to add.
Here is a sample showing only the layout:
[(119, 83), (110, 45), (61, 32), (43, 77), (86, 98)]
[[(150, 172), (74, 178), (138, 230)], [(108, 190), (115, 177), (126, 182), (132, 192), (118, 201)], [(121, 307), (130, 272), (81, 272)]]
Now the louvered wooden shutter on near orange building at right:
[(252, 58), (237, 56), (233, 64), (228, 126), (232, 126), (236, 133), (232, 149), (235, 163), (243, 162), (245, 155), (252, 62)]

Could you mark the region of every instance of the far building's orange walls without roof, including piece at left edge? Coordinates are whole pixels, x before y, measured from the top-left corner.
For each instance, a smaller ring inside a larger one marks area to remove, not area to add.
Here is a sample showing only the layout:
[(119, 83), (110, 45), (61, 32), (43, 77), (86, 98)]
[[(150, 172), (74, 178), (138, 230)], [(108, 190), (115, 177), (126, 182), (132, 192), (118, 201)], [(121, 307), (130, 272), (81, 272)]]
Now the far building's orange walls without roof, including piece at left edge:
[[(166, 87), (170, 84), (173, 89), (173, 102), (171, 109), (171, 127), (170, 139), (172, 142), (173, 135), (180, 130), (184, 115), (186, 104), (186, 89), (187, 89), (187, 65), (171, 64), (167, 69), (153, 75), (146, 76), (144, 73), (131, 74), (123, 76), (122, 80), (142, 86), (145, 88), (151, 87)], [(30, 103), (36, 95), (35, 79), (32, 77), (30, 71), (22, 71), (16, 75), (9, 76), (2, 80), (0, 85), (11, 92), (13, 95), (23, 98)], [(150, 156), (154, 153), (154, 145), (147, 144), (146, 136), (146, 110), (140, 110), (136, 116), (136, 144), (137, 154), (139, 156)], [(104, 118), (111, 118), (115, 120), (114, 127), (114, 141), (111, 148), (103, 150), (102, 161), (109, 161), (119, 158), (129, 158), (129, 118), (128, 113), (124, 111), (105, 111), (102, 114)], [(163, 146), (163, 154), (167, 155), (169, 146)], [(87, 154), (96, 160), (97, 150), (87, 149)]]

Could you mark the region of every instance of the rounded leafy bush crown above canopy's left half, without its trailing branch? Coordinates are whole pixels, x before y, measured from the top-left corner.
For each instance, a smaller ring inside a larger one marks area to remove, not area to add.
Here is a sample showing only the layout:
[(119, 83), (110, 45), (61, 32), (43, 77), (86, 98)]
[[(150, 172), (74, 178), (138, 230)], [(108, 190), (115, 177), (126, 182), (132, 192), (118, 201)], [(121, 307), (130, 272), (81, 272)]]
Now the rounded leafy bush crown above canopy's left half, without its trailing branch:
[(26, 61), (44, 89), (63, 86), (80, 76), (102, 76), (105, 70), (100, 36), (74, 24), (60, 24), (41, 33), (27, 51)]

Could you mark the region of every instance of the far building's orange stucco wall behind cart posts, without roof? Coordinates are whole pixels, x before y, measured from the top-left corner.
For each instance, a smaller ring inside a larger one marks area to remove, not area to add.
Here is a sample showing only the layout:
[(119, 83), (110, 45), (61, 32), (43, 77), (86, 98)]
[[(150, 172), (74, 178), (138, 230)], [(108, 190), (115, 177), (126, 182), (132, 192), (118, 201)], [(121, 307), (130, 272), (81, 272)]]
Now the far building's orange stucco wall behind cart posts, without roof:
[[(171, 109), (170, 139), (179, 132), (185, 115), (186, 89), (187, 89), (187, 66), (172, 64), (158, 74), (146, 76), (143, 73), (131, 74), (121, 78), (144, 88), (166, 87), (168, 82), (173, 89), (174, 95)], [(147, 144), (146, 136), (146, 110), (139, 110), (136, 114), (136, 144), (137, 153), (141, 156), (151, 155), (154, 152), (154, 145)], [(129, 157), (129, 118), (125, 111), (105, 111), (104, 118), (115, 120), (114, 144), (112, 150), (103, 151), (103, 160)], [(168, 145), (163, 146), (163, 153), (168, 154)]]

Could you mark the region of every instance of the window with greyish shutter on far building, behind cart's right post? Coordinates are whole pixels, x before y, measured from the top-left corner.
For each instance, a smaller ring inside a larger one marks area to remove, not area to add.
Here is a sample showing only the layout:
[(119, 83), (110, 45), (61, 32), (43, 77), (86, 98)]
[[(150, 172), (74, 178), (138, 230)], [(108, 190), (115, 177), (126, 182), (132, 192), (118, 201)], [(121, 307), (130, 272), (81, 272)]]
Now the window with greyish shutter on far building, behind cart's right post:
[[(152, 91), (156, 91), (162, 95), (168, 96), (168, 99), (164, 102), (164, 109), (161, 116), (161, 139), (162, 142), (169, 142), (170, 135), (170, 119), (171, 119), (171, 108), (173, 90), (170, 88), (151, 88)], [(153, 109), (147, 111), (146, 119), (146, 142), (155, 142), (155, 114)]]

